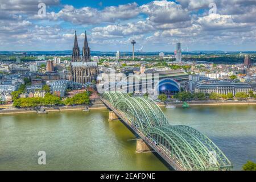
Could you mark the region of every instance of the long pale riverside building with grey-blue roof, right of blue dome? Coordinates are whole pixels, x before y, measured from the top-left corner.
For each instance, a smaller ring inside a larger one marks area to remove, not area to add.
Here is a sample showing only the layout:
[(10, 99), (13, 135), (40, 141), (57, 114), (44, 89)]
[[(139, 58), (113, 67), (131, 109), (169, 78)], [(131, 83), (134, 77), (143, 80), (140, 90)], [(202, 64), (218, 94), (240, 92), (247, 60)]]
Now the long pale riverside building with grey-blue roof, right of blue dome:
[(195, 93), (232, 93), (234, 96), (238, 92), (249, 94), (252, 87), (246, 82), (228, 82), (228, 81), (208, 81), (198, 82), (195, 86)]

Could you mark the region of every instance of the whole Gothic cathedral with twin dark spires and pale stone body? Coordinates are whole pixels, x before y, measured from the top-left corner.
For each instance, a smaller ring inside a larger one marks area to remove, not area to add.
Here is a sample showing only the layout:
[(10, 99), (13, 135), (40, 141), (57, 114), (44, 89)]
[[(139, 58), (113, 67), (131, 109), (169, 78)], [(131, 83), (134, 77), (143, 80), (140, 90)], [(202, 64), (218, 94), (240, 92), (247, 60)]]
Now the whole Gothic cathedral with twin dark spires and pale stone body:
[(82, 57), (80, 56), (80, 49), (75, 32), (75, 43), (71, 60), (71, 74), (72, 81), (79, 82), (81, 84), (96, 81), (97, 79), (98, 63), (90, 60), (90, 48), (88, 46), (86, 32), (84, 47), (82, 48)]

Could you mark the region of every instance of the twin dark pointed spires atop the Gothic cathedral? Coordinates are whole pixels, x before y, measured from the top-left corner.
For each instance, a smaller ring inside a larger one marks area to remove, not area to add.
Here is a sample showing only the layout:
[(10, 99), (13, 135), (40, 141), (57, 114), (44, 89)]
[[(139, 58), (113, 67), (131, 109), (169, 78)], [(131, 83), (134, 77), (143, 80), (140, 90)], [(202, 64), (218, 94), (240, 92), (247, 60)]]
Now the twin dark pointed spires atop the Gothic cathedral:
[(75, 42), (72, 53), (72, 62), (90, 62), (90, 48), (88, 46), (87, 35), (85, 31), (84, 47), (82, 48), (82, 59), (80, 57), (80, 49), (77, 42), (77, 35), (75, 31)]

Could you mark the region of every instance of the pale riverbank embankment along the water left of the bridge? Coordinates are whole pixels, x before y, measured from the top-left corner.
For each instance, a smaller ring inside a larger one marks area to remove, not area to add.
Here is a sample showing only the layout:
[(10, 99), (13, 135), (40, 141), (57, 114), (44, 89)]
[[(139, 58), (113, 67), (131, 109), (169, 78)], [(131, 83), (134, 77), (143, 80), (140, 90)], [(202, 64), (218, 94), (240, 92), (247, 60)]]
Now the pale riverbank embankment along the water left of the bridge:
[[(55, 107), (44, 107), (46, 113), (52, 112), (60, 112), (60, 111), (73, 111), (73, 110), (84, 110), (85, 106), (77, 105), (77, 106), (55, 106)], [(97, 110), (97, 109), (106, 109), (106, 106), (100, 100), (92, 101), (92, 103), (88, 106), (89, 110)], [(25, 114), (25, 113), (38, 113), (40, 108), (15, 108), (11, 107), (9, 109), (0, 110), (0, 115), (6, 114)]]

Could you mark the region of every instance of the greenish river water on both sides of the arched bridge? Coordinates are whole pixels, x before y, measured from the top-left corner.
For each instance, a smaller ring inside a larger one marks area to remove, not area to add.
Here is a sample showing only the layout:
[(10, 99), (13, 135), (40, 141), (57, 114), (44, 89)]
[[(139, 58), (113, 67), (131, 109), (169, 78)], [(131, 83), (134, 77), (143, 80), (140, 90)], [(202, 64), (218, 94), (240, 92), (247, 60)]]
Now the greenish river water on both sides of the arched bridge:
[[(172, 125), (206, 134), (240, 170), (256, 162), (256, 106), (163, 109)], [(135, 136), (108, 110), (0, 116), (0, 170), (168, 170), (154, 154), (137, 154)], [(46, 165), (38, 152), (46, 152)]]

